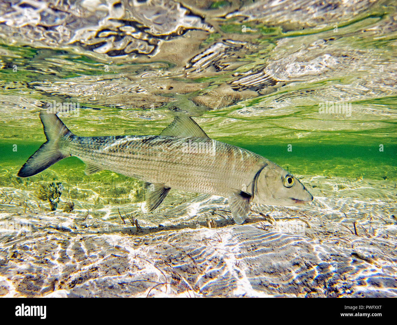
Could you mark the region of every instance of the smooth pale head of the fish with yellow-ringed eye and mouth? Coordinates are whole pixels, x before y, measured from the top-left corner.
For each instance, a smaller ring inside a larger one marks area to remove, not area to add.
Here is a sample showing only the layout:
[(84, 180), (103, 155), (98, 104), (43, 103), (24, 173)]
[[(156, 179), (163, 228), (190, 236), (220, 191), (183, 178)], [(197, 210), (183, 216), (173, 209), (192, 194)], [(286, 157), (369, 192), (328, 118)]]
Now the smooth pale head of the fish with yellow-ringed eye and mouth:
[(291, 206), (310, 201), (313, 201), (313, 195), (287, 170), (269, 162), (260, 171), (255, 184), (254, 203)]

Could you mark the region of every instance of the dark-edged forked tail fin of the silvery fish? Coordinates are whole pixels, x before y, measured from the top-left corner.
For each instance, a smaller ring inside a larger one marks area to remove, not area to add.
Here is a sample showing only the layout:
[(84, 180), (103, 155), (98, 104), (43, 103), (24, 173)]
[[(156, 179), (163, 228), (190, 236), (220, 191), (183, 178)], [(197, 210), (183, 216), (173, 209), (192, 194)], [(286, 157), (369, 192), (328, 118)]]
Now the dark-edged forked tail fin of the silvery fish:
[(25, 162), (17, 174), (18, 177), (36, 175), (69, 156), (59, 150), (59, 140), (66, 135), (73, 135), (73, 133), (69, 131), (56, 114), (50, 114), (42, 110), (40, 112), (40, 120), (43, 124), (47, 141)]

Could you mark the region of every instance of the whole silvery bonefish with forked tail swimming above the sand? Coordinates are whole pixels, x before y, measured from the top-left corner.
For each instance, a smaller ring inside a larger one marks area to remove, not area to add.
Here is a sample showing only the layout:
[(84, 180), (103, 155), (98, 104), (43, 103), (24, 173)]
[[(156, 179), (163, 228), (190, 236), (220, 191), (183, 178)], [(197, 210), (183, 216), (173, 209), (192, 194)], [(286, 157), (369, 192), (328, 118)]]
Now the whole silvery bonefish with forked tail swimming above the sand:
[(66, 157), (86, 164), (87, 175), (111, 170), (144, 181), (151, 212), (171, 188), (227, 197), (236, 224), (251, 203), (297, 205), (313, 200), (295, 176), (251, 151), (210, 139), (187, 116), (176, 116), (160, 135), (79, 137), (56, 116), (40, 112), (47, 141), (17, 176), (42, 172)]

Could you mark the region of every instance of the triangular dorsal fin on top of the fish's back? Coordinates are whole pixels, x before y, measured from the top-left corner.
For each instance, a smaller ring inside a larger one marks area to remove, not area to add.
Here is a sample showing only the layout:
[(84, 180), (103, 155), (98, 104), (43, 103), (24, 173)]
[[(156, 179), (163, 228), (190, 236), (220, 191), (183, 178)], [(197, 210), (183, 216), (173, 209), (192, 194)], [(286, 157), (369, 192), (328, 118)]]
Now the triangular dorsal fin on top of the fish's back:
[(160, 135), (168, 135), (170, 137), (198, 137), (209, 139), (208, 135), (193, 121), (189, 116), (175, 116), (172, 123), (167, 126)]

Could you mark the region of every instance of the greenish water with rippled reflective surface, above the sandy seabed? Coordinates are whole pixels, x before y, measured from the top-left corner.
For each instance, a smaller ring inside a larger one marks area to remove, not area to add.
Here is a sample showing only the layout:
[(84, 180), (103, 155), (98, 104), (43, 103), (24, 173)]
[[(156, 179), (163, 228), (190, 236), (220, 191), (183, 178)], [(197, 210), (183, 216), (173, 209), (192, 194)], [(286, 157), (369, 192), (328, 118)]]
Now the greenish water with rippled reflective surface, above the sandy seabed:
[[(19, 20), (17, 7), (4, 13), (2, 186), (26, 181), (15, 175), (45, 141), (38, 113), (49, 103), (78, 104), (77, 112), (58, 114), (77, 135), (156, 135), (175, 114), (188, 114), (210, 137), (298, 175), (395, 182), (392, 2), (343, 10), (306, 10), (298, 2), (272, 11), (260, 2), (209, 1), (195, 3), (190, 14), (183, 5), (165, 5), (179, 18), (162, 23), (142, 14), (146, 4), (122, 2), (124, 13), (115, 8), (108, 16), (77, 5), (89, 19), (62, 26), (50, 8), (39, 22), (33, 14)], [(137, 28), (140, 34), (131, 34)], [(321, 111), (328, 103), (351, 111)], [(83, 168), (68, 158), (28, 181), (136, 181), (108, 171), (85, 176)]]

